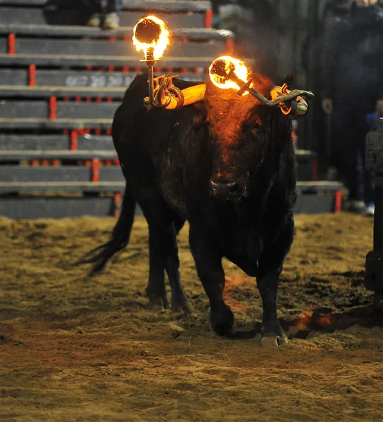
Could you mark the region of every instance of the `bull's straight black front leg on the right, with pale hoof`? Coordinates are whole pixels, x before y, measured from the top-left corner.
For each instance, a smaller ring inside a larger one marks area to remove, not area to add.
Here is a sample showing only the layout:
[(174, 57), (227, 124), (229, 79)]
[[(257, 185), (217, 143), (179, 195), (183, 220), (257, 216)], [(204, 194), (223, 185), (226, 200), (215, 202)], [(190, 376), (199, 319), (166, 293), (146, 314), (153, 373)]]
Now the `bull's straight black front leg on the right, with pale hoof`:
[(277, 316), (277, 291), (284, 258), (289, 252), (293, 237), (294, 220), (291, 219), (275, 243), (263, 251), (258, 260), (257, 285), (263, 303), (260, 344), (265, 347), (287, 343)]

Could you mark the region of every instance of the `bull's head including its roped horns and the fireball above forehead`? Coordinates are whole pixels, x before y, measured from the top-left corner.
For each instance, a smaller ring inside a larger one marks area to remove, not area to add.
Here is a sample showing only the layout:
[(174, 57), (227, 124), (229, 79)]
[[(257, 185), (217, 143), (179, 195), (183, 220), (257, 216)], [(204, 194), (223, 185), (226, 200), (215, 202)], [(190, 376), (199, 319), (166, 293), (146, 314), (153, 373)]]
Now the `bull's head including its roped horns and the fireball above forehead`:
[[(249, 74), (246, 67), (238, 71), (238, 60), (224, 59), (213, 62), (206, 84), (180, 91), (172, 85), (171, 77), (159, 78), (154, 104), (174, 110), (204, 101), (203, 120), (208, 123), (214, 157), (211, 194), (239, 200), (248, 193), (249, 177), (263, 162), (270, 139), (291, 136), (290, 120), (279, 113), (304, 115), (308, 110), (306, 99), (313, 94), (290, 91), (289, 82), (275, 87), (270, 79)], [(225, 82), (228, 86), (222, 86)]]

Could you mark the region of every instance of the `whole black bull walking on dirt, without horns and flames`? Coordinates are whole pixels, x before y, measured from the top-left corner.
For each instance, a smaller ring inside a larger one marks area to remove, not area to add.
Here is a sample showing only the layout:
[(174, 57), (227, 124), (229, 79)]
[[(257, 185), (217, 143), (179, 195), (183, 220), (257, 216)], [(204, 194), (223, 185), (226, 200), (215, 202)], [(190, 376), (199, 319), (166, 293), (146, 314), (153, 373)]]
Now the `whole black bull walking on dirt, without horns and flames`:
[[(253, 75), (270, 98), (272, 82)], [(193, 83), (175, 79), (180, 89)], [(209, 322), (232, 333), (234, 316), (222, 293), (222, 257), (256, 276), (263, 302), (262, 343), (287, 340), (277, 319), (277, 285), (294, 236), (296, 200), (291, 117), (251, 95), (207, 83), (205, 101), (180, 110), (146, 110), (146, 75), (127, 89), (113, 120), (113, 142), (126, 179), (123, 208), (111, 240), (86, 262), (100, 271), (128, 243), (138, 203), (149, 224), (149, 300), (187, 309), (176, 236), (189, 221), (189, 244), (210, 300)]]

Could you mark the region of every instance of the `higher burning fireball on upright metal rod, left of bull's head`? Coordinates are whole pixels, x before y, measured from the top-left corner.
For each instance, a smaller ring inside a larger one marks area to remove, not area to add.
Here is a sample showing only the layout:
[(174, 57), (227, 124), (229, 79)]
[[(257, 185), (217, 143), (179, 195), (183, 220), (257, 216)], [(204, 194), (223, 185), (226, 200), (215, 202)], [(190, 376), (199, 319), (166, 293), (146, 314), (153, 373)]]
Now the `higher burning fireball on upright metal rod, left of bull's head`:
[(153, 59), (159, 60), (170, 44), (170, 32), (160, 18), (145, 16), (133, 28), (133, 44), (137, 51), (144, 51), (146, 59), (149, 49), (153, 49)]

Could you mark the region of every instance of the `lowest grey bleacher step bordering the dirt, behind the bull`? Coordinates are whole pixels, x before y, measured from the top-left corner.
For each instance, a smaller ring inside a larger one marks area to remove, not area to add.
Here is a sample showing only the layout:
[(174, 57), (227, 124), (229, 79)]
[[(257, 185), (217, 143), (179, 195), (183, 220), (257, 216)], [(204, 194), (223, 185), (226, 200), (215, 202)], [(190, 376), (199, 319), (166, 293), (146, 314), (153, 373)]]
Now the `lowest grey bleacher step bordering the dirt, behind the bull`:
[[(3, 193), (0, 200), (0, 215), (10, 218), (117, 215), (124, 188), (123, 181), (0, 182), (0, 193)], [(341, 200), (341, 188), (341, 184), (299, 182), (295, 213), (339, 212), (340, 208), (337, 210), (337, 207)], [(141, 213), (137, 207), (136, 214)]]

